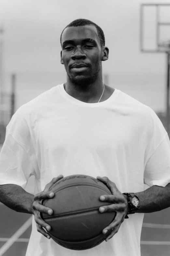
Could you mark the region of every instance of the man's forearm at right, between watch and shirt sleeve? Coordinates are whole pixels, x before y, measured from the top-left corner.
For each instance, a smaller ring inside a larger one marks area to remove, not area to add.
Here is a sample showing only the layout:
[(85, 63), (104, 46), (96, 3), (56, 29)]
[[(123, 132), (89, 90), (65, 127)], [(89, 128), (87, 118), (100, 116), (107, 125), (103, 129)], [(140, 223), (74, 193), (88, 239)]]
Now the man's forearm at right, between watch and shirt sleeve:
[(152, 213), (170, 207), (170, 183), (165, 187), (152, 186), (135, 195), (140, 200), (138, 213)]

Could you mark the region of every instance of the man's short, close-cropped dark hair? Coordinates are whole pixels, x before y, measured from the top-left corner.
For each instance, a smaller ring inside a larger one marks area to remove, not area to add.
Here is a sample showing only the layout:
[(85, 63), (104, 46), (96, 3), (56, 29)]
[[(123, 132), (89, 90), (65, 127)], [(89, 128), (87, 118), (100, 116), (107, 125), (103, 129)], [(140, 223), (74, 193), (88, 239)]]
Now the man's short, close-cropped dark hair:
[[(100, 40), (100, 46), (101, 47), (105, 46), (105, 35), (104, 35), (103, 30), (101, 29), (101, 27), (99, 27), (97, 24), (95, 24), (94, 22), (92, 22), (90, 20), (77, 19), (77, 20), (72, 21), (66, 27), (78, 27), (78, 26), (86, 26), (86, 25), (91, 25), (91, 26), (95, 26), (96, 27), (97, 33), (98, 33), (98, 37), (99, 37), (99, 40)], [(63, 29), (63, 31), (64, 31), (64, 29)], [(62, 38), (63, 31), (61, 33), (60, 43), (61, 43), (61, 38)], [(62, 47), (62, 43), (61, 43), (61, 47)]]

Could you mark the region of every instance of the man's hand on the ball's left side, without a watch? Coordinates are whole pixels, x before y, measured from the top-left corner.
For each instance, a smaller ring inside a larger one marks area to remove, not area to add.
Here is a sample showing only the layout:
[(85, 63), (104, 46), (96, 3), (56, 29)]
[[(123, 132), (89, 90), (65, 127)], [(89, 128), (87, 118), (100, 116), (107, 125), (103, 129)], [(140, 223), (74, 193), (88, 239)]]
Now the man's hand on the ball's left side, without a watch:
[(45, 186), (44, 191), (36, 194), (34, 196), (33, 202), (33, 214), (35, 217), (37, 231), (43, 234), (45, 237), (50, 239), (49, 234), (44, 230), (47, 229), (50, 231), (51, 227), (41, 218), (40, 213), (48, 213), (51, 215), (53, 213), (52, 209), (45, 207), (42, 205), (42, 201), (44, 199), (52, 198), (54, 196), (53, 192), (50, 192), (50, 188), (54, 185), (58, 180), (63, 179), (63, 175), (59, 175), (57, 178), (53, 178), (50, 183)]

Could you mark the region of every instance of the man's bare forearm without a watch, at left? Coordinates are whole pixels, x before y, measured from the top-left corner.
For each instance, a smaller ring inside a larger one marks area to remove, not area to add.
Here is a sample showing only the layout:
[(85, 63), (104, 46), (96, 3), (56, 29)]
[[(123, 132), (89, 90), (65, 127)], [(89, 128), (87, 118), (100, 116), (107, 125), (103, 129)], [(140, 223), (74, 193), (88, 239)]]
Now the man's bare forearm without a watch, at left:
[(16, 212), (33, 214), (34, 195), (18, 185), (0, 185), (0, 201)]

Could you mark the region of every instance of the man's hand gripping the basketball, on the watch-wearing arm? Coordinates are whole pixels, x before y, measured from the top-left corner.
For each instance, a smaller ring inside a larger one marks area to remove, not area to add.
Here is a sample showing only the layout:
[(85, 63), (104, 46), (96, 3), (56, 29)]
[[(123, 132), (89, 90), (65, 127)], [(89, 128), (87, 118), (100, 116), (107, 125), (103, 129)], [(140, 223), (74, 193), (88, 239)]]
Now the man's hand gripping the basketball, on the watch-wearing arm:
[(97, 176), (97, 179), (102, 181), (110, 190), (112, 195), (104, 195), (100, 196), (100, 200), (103, 202), (110, 202), (112, 204), (102, 206), (99, 208), (101, 213), (105, 212), (116, 212), (115, 219), (108, 225), (104, 230), (103, 234), (106, 234), (109, 230), (112, 230), (110, 235), (106, 237), (105, 241), (107, 242), (110, 238), (112, 238), (119, 230), (121, 223), (124, 221), (125, 216), (127, 215), (128, 202), (125, 196), (118, 190), (116, 184), (109, 180), (107, 177)]

